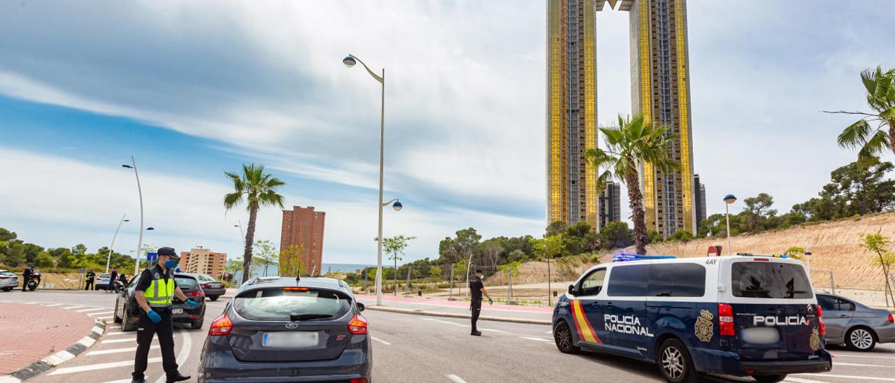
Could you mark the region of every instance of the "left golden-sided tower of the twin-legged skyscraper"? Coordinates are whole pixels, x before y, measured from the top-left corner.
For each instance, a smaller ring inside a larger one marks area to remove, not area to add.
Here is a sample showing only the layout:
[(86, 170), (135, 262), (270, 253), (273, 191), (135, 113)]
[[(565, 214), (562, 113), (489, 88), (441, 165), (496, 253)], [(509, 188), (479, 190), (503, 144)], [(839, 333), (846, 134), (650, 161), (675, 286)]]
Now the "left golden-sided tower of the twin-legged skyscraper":
[(547, 225), (598, 225), (595, 19), (593, 0), (547, 1)]

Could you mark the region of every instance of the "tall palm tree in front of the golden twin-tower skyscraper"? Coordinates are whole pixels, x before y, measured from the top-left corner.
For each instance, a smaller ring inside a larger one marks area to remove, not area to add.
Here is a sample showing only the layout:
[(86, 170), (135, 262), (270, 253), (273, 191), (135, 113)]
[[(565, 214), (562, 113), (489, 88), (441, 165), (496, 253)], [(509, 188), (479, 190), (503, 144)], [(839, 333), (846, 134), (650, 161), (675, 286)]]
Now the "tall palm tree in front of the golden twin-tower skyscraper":
[(669, 156), (674, 135), (667, 134), (667, 130), (665, 125), (645, 121), (643, 115), (634, 115), (630, 119), (618, 115), (617, 127), (600, 128), (605, 137), (606, 149), (589, 149), (584, 153), (587, 161), (599, 174), (596, 185), (598, 191), (612, 178), (627, 184), (637, 254), (645, 254), (646, 243), (649, 243), (644, 217), (644, 194), (640, 191), (640, 166), (649, 162), (662, 171), (678, 168), (678, 162)]

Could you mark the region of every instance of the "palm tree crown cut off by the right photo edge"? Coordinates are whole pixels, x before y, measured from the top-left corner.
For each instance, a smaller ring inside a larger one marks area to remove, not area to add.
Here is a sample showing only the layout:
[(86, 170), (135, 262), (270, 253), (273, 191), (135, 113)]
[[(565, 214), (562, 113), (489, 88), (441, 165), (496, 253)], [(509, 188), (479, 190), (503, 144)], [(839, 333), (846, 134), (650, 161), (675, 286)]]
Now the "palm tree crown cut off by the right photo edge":
[[(867, 105), (873, 113), (826, 112), (845, 115), (863, 115), (856, 123), (842, 130), (837, 142), (840, 147), (857, 149), (859, 160), (879, 157), (884, 151), (895, 153), (895, 69), (882, 72), (882, 67), (861, 72), (861, 81), (867, 89)], [(872, 127), (870, 123), (877, 123)]]

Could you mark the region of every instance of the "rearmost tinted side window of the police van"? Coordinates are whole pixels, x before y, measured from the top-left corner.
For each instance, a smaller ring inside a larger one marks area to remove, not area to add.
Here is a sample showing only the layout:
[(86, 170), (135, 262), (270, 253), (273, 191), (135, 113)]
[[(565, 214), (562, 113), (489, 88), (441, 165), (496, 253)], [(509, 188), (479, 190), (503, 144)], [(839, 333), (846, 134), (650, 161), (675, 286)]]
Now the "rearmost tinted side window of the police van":
[(695, 263), (650, 265), (649, 296), (703, 296), (705, 268)]

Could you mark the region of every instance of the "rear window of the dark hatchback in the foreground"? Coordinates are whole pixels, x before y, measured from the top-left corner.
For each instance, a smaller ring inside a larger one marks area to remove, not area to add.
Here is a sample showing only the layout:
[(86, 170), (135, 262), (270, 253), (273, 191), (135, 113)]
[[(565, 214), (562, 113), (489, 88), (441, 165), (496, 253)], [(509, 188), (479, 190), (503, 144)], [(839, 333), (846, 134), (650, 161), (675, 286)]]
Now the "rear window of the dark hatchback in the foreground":
[(351, 309), (351, 300), (332, 290), (288, 291), (276, 287), (239, 294), (233, 307), (240, 316), (251, 320), (291, 320), (293, 315), (336, 319)]

